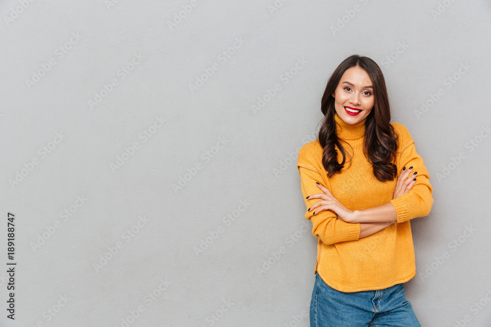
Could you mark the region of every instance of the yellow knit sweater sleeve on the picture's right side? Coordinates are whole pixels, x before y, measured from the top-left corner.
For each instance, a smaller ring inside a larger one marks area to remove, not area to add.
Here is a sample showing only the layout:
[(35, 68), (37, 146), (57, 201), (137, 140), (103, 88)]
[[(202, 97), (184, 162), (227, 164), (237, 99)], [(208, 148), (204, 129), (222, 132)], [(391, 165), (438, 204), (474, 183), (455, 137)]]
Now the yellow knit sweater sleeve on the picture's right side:
[(409, 169), (412, 166), (412, 171), (418, 172), (418, 174), (415, 177), (416, 183), (408, 193), (390, 200), (390, 203), (396, 209), (397, 223), (404, 223), (416, 217), (424, 217), (430, 213), (433, 205), (433, 188), (430, 184), (430, 174), (425, 167), (423, 159), (416, 152), (414, 140), (410, 136), (409, 131), (407, 131), (406, 127), (403, 127), (403, 129), (409, 141), (401, 148), (397, 178), (399, 178), (403, 167)]

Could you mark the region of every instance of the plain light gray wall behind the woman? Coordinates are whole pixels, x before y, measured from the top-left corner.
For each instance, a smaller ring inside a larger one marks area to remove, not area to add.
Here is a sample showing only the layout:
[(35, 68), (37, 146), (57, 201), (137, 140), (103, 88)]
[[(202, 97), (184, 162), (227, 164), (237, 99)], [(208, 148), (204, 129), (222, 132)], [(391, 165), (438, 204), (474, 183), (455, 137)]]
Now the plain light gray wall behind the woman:
[(489, 1), (109, 1), (0, 2), (0, 325), (308, 326), (297, 156), (359, 53), (434, 187), (407, 299), (490, 326)]

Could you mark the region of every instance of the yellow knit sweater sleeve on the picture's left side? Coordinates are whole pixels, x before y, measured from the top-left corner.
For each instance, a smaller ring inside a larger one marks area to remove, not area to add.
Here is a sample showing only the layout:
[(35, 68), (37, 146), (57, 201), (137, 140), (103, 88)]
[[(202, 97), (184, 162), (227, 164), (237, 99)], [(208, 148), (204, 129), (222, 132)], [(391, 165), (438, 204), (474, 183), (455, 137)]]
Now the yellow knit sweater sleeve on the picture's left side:
[[(300, 151), (301, 153), (302, 151)], [(305, 201), (306, 210), (317, 201), (322, 199), (313, 198), (305, 199), (308, 196), (322, 193), (315, 182), (324, 185), (323, 178), (316, 168), (310, 164), (300, 162), (302, 156), (299, 154), (297, 168), (300, 173), (300, 184), (302, 189), (303, 200)], [(360, 236), (360, 224), (347, 223), (337, 218), (337, 214), (332, 210), (324, 210), (315, 216), (312, 211), (305, 212), (305, 218), (312, 222), (312, 234), (318, 237), (324, 244), (334, 244), (337, 242), (354, 241)]]

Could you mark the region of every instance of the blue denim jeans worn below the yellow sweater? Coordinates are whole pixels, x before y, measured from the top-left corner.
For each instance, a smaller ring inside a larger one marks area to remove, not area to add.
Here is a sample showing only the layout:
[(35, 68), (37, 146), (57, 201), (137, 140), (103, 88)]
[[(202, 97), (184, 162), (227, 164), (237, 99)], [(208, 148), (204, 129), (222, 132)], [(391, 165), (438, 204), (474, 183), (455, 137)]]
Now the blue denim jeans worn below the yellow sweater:
[(382, 290), (346, 293), (329, 287), (315, 274), (310, 327), (421, 327), (404, 284)]

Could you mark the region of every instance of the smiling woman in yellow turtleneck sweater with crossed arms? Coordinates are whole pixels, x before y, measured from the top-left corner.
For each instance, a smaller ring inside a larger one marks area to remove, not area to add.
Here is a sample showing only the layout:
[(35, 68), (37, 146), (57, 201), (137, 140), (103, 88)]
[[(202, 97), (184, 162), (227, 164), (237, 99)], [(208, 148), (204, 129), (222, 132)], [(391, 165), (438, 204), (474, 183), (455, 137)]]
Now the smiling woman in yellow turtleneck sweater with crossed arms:
[(311, 327), (421, 326), (403, 283), (416, 274), (409, 220), (433, 189), (408, 129), (390, 123), (380, 67), (352, 55), (327, 81), (319, 138), (297, 168), (319, 238)]

